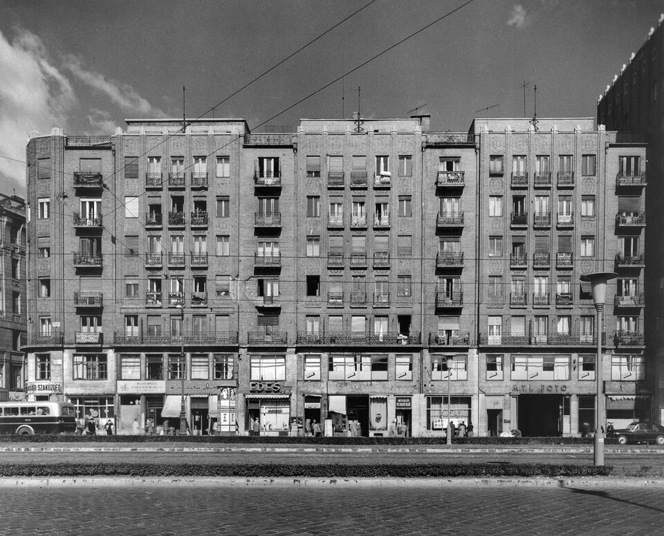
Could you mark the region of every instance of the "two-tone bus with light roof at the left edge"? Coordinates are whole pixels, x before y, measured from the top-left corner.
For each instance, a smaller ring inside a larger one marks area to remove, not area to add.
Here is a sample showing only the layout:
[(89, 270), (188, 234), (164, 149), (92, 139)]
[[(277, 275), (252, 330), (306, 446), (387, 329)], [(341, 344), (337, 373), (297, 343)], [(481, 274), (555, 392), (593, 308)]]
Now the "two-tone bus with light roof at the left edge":
[(76, 432), (76, 410), (68, 402), (0, 402), (0, 434)]

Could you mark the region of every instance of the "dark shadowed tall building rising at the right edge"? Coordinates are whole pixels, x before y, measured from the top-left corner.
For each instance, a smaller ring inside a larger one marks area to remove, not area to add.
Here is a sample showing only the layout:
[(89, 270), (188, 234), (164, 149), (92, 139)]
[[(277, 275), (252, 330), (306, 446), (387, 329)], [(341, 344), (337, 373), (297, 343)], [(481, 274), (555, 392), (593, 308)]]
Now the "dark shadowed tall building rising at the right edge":
[[(652, 391), (653, 421), (664, 421), (664, 14), (647, 39), (623, 64), (620, 74), (607, 85), (597, 104), (597, 118), (607, 130), (618, 131), (623, 142), (647, 141), (646, 158), (620, 162), (618, 180), (623, 190), (646, 189), (645, 212), (648, 225), (643, 238), (646, 245), (645, 342), (647, 378)], [(643, 386), (646, 389), (646, 386)], [(647, 405), (648, 400), (637, 401)]]

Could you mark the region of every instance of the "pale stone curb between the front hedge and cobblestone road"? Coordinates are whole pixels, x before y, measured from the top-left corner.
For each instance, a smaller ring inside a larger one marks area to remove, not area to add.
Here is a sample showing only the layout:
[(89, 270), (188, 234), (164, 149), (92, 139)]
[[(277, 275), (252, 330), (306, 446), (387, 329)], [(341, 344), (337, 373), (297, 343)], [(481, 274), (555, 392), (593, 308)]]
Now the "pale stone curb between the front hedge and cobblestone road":
[(664, 479), (306, 479), (306, 478), (0, 478), (7, 488), (659, 488)]

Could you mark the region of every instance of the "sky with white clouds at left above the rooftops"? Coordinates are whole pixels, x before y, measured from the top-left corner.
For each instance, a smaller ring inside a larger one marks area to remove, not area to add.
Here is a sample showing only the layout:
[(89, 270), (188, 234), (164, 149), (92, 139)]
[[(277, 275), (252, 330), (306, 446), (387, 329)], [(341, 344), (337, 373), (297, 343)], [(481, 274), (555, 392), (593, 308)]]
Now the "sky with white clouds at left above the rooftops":
[(187, 118), (255, 131), (358, 108), (467, 131), (523, 117), (524, 82), (526, 115), (537, 84), (538, 116), (594, 117), (662, 12), (664, 0), (0, 0), (0, 192), (25, 195), (31, 136), (181, 118), (183, 86)]

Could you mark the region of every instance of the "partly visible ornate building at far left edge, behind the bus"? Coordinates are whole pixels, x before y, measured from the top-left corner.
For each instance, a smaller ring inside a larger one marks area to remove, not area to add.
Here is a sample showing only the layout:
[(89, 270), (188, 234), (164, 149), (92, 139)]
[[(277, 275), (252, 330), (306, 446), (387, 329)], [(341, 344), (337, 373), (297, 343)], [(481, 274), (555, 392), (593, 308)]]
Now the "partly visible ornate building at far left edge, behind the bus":
[(24, 398), (26, 203), (0, 194), (0, 400)]

